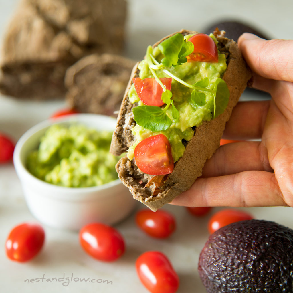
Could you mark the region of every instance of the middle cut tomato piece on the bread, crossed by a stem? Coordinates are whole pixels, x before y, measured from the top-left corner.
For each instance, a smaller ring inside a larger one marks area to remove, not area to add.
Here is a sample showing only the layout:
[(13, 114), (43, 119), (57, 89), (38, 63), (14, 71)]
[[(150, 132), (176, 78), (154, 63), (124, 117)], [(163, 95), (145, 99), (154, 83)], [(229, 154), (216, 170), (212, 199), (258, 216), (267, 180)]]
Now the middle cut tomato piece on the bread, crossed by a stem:
[[(169, 77), (160, 78), (167, 90), (171, 89), (172, 79)], [(163, 88), (154, 78), (140, 79), (134, 77), (132, 79), (137, 95), (140, 100), (148, 106), (162, 106), (164, 102), (161, 99)]]

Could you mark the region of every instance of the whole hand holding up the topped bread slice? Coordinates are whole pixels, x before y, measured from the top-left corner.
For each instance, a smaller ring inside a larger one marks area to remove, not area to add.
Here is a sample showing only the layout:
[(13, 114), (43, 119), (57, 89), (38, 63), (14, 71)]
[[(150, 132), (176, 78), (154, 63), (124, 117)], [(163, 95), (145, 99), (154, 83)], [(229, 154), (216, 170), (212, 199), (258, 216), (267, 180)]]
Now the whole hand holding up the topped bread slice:
[(238, 40), (253, 71), (253, 87), (271, 100), (239, 102), (221, 146), (202, 177), (172, 204), (183, 206), (293, 207), (293, 40), (263, 40), (245, 33)]

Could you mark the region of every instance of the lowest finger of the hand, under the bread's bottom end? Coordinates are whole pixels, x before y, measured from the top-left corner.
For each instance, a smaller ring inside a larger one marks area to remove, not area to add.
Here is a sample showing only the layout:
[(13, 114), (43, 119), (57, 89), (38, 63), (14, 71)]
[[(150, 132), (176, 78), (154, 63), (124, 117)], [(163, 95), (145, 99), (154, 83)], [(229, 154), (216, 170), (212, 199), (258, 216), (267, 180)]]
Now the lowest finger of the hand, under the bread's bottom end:
[(191, 188), (171, 204), (185, 207), (288, 206), (275, 174), (267, 171), (197, 178)]

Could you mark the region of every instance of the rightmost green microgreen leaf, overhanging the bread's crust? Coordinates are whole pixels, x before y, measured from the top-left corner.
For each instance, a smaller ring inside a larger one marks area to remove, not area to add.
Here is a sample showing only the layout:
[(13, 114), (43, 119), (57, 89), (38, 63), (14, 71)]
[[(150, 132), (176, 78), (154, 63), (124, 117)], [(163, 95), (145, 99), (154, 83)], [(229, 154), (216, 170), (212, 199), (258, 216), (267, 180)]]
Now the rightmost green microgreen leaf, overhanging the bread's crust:
[(229, 103), (230, 92), (226, 82), (220, 78), (218, 78), (215, 82), (214, 91), (215, 94), (213, 118), (216, 118), (224, 113)]

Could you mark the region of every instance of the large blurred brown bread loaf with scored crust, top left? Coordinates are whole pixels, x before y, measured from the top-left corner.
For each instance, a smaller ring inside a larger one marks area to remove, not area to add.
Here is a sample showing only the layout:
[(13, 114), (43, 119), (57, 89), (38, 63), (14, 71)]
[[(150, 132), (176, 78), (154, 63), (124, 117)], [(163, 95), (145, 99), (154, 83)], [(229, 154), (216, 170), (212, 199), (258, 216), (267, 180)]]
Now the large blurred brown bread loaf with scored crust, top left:
[(80, 58), (123, 50), (125, 0), (22, 0), (1, 52), (0, 91), (64, 97), (64, 75)]

